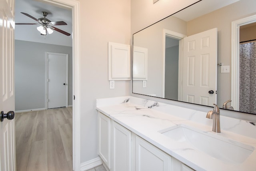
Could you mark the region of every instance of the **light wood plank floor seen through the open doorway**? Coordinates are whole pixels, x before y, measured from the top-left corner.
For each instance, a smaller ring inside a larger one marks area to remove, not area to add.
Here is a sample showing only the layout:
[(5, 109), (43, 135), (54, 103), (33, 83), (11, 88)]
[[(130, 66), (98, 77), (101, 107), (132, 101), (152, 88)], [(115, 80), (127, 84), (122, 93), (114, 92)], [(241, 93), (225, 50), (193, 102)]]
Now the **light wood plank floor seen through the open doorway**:
[(17, 171), (72, 171), (72, 107), (15, 114)]

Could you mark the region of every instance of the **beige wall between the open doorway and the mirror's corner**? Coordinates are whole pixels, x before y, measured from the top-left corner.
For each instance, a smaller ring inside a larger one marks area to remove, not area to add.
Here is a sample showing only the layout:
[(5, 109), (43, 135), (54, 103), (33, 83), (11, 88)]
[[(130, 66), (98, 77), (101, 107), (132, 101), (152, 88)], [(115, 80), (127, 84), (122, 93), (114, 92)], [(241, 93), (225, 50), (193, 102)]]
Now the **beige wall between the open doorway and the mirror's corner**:
[(130, 0), (80, 1), (81, 163), (97, 155), (96, 99), (130, 94), (130, 81), (109, 89), (108, 42), (130, 44)]

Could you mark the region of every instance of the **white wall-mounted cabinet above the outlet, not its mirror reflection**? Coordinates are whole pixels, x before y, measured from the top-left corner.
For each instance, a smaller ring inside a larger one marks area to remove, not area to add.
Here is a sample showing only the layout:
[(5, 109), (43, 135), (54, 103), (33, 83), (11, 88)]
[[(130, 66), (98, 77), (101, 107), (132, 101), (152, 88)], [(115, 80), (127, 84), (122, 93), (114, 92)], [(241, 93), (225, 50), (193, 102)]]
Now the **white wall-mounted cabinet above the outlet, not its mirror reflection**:
[(130, 45), (108, 42), (108, 80), (131, 80)]

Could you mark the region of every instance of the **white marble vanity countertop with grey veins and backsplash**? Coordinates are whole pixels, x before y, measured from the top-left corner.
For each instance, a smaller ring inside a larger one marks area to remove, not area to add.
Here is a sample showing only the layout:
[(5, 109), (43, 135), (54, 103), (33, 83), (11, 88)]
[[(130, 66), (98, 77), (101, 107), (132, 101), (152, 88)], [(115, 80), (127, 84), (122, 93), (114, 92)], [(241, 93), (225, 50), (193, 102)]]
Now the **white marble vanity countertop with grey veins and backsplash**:
[[(195, 170), (256, 170), (256, 126), (247, 121), (221, 116), (221, 133), (214, 133), (212, 119), (205, 118), (205, 112), (130, 96), (97, 99), (96, 109)], [(221, 153), (220, 157), (212, 157), (159, 132), (180, 124), (249, 145), (254, 151), (245, 161), (223, 161)]]

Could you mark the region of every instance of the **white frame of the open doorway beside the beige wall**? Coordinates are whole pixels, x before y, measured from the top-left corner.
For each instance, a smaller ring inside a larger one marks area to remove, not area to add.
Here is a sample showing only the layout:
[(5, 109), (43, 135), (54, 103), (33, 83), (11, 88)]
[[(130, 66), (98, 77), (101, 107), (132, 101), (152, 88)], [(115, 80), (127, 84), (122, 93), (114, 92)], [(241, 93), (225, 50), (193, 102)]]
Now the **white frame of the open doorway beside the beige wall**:
[(80, 2), (76, 0), (39, 0), (72, 10), (72, 61), (73, 61), (73, 170), (81, 170), (80, 156)]

